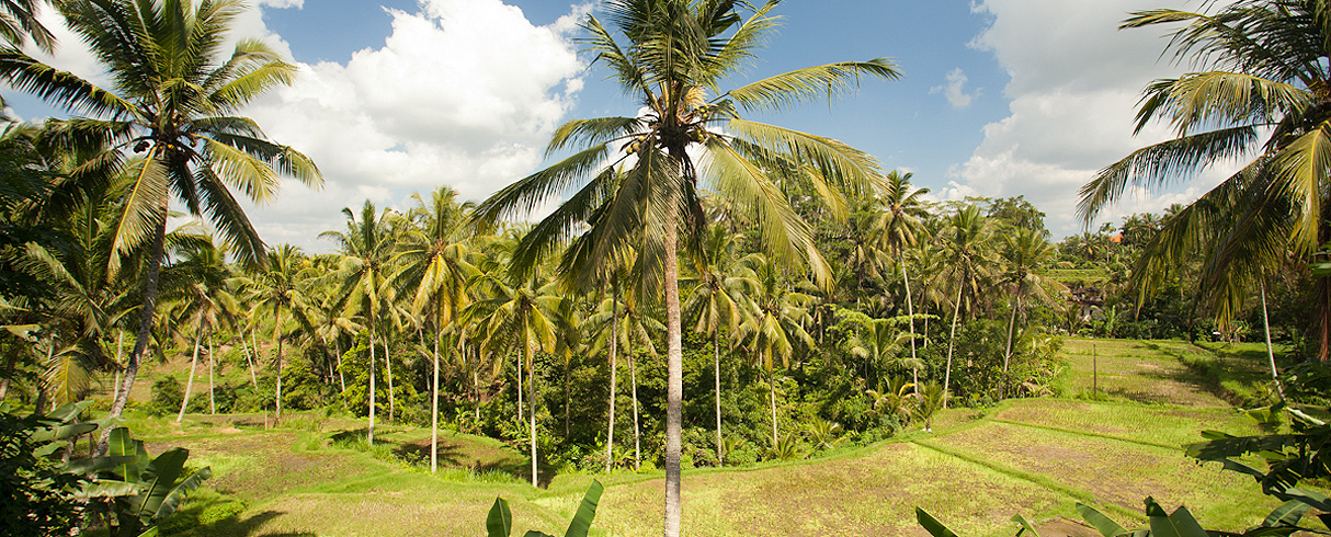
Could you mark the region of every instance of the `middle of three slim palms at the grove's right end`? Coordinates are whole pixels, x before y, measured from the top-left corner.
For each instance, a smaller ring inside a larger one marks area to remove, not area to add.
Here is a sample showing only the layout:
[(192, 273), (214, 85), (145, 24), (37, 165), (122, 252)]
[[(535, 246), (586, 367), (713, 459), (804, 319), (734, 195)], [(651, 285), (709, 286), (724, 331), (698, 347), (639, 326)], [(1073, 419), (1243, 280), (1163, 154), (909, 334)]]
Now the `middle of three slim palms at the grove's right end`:
[[(977, 298), (989, 279), (990, 251), (989, 219), (980, 207), (966, 205), (957, 209), (948, 221), (944, 237), (944, 257), (948, 259), (948, 279), (957, 287), (957, 298), (952, 302), (952, 331), (948, 334), (948, 366), (942, 376), (942, 408), (948, 408), (948, 393), (952, 389), (952, 354), (957, 344), (957, 320), (961, 318), (962, 302), (969, 302), (968, 315), (974, 314)], [(970, 291), (966, 295), (966, 291)], [(966, 300), (969, 299), (969, 300)]]

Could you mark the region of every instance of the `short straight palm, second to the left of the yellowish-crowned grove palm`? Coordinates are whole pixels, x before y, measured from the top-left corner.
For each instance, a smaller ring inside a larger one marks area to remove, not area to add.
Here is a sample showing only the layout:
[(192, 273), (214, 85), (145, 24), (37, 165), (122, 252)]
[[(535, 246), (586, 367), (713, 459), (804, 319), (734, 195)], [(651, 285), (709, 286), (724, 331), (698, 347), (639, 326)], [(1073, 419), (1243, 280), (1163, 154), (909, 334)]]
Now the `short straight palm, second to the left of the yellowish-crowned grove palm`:
[[(286, 339), (284, 331), (284, 310), (305, 331), (313, 331), (313, 326), (306, 316), (309, 311), (309, 296), (305, 292), (306, 280), (310, 274), (306, 271), (305, 254), (291, 245), (280, 245), (268, 253), (268, 261), (258, 274), (246, 279), (245, 286), (254, 296), (258, 307), (268, 307), (273, 311), (273, 339), (277, 343), (277, 387), (274, 389), (276, 412), (274, 427), (282, 420), (282, 343)], [(256, 346), (254, 351), (258, 351)]]

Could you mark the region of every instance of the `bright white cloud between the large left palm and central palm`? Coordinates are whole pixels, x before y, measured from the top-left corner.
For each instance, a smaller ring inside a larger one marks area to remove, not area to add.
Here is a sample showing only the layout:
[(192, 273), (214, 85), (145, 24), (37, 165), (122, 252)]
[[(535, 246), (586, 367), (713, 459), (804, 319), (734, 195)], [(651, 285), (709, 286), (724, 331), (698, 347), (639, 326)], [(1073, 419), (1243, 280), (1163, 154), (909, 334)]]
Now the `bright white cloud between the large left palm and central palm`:
[[(276, 202), (250, 210), (260, 234), (327, 250), (314, 238), (342, 227), (343, 206), (401, 209), (411, 191), (442, 185), (480, 199), (530, 173), (582, 89), (571, 32), (584, 12), (535, 27), (499, 0), (423, 0), (417, 13), (390, 11), (382, 47), (346, 64), (301, 64), (294, 85), (246, 113), (310, 156), (326, 183), (284, 183)], [(248, 23), (276, 41), (257, 12)]]

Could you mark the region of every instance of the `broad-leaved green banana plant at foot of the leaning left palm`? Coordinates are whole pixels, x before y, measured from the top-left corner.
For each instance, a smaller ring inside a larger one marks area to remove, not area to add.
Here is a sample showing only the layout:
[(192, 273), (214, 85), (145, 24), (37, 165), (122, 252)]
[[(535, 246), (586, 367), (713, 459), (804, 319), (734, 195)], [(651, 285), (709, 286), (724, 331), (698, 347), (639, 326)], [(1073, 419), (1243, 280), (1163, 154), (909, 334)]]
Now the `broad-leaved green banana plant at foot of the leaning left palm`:
[(157, 525), (213, 475), (205, 467), (181, 477), (188, 449), (168, 449), (150, 459), (142, 440), (134, 440), (126, 428), (112, 429), (109, 440), (109, 457), (91, 463), (97, 479), (81, 496), (91, 500), (89, 512), (106, 521), (112, 537), (137, 536)]

